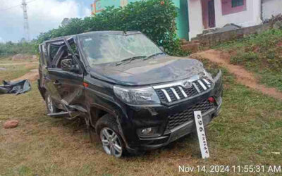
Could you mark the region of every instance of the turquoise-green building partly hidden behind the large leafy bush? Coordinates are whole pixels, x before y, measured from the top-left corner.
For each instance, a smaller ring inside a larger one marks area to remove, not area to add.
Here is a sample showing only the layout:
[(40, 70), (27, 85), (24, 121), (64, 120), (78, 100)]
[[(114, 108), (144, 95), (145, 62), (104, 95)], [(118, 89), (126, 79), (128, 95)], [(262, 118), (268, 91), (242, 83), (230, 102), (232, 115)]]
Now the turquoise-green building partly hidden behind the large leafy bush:
[[(97, 14), (106, 8), (106, 6), (126, 6), (130, 2), (140, 0), (95, 0), (91, 4), (92, 14)], [(172, 0), (175, 4), (178, 17), (176, 18), (177, 34), (180, 39), (189, 39), (189, 26), (188, 26), (188, 1), (187, 0)]]

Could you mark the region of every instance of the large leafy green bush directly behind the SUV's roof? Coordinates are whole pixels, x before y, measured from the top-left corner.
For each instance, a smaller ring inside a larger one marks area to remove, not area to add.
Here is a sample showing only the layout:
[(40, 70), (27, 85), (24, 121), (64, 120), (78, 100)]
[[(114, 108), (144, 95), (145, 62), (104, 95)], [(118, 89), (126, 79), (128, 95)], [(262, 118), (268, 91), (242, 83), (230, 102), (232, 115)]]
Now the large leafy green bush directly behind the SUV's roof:
[(143, 32), (166, 53), (183, 56), (176, 39), (176, 7), (171, 0), (148, 0), (130, 3), (123, 8), (107, 7), (97, 15), (84, 19), (73, 18), (68, 25), (42, 33), (38, 42), (71, 34), (99, 30), (137, 30)]

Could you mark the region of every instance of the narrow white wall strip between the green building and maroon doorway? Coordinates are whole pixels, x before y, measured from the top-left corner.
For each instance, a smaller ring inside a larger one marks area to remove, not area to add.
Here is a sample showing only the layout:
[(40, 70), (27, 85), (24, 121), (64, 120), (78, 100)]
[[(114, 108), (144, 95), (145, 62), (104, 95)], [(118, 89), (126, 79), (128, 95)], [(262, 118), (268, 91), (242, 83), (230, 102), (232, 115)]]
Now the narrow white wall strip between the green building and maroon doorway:
[(204, 30), (202, 23), (202, 4), (200, 0), (188, 0), (189, 39), (201, 34)]

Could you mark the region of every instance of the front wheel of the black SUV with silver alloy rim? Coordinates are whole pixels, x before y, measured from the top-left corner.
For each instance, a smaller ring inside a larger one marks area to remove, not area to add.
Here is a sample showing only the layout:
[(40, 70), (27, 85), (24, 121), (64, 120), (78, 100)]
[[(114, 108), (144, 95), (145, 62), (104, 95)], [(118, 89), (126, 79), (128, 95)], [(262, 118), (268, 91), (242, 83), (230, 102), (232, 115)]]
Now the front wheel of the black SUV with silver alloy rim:
[(120, 158), (125, 154), (125, 144), (114, 116), (106, 114), (100, 118), (96, 123), (96, 130), (103, 149), (108, 155)]

